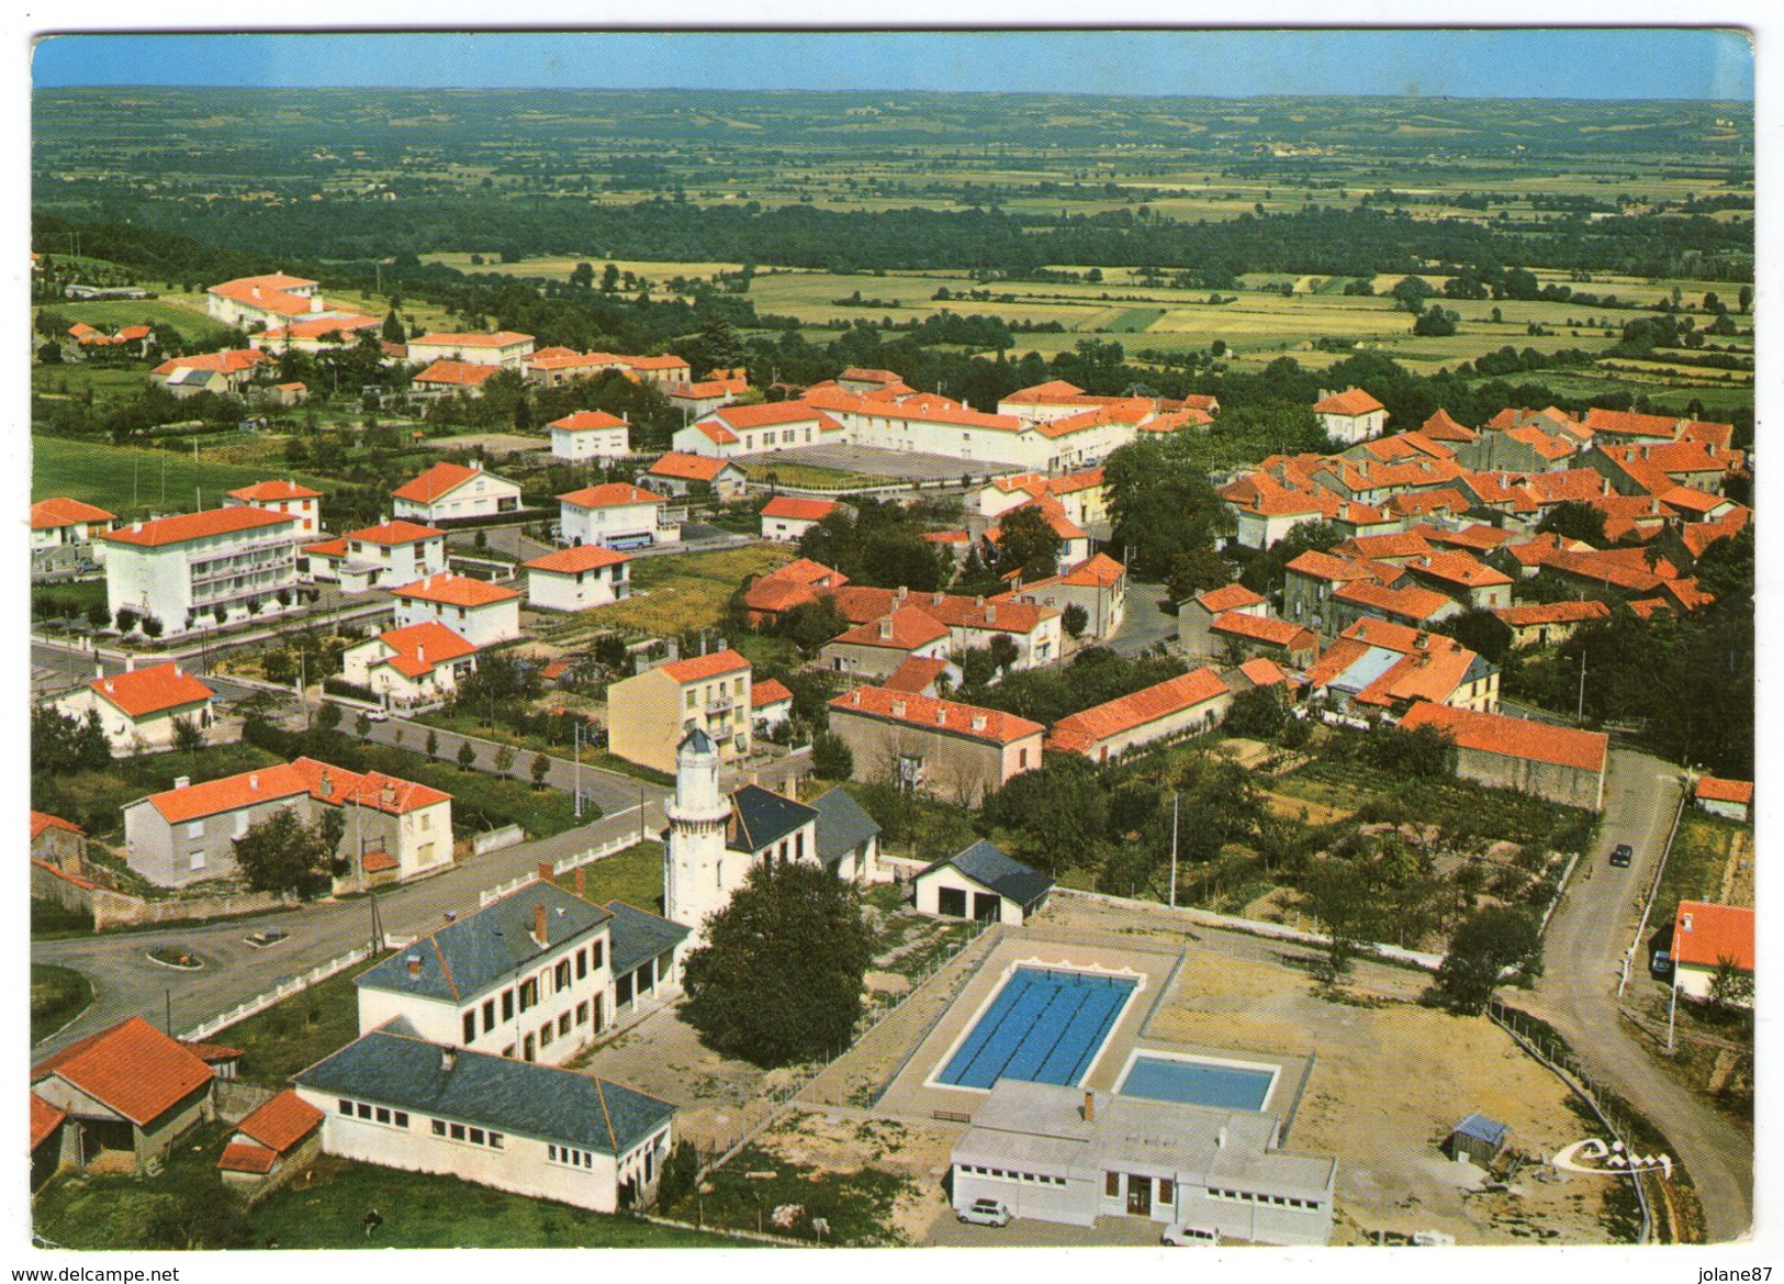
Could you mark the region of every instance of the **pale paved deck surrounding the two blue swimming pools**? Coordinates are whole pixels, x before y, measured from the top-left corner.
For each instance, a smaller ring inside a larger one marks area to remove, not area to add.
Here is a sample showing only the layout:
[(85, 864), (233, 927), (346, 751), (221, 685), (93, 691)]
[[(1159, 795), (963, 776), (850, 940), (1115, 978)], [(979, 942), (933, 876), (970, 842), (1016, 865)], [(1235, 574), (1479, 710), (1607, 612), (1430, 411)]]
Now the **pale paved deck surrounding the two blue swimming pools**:
[(904, 1070), (887, 1088), (874, 1114), (965, 1123), (985, 1100), (985, 1089), (938, 1084), (935, 1075), (947, 1064), (1010, 973), (1019, 966), (1031, 966), (1103, 971), (1138, 980), (1133, 998), (1090, 1063), (1090, 1070), (1083, 1077), (1085, 1088), (1115, 1091), (1136, 1050), (1167, 1057), (1197, 1057), (1270, 1068), (1277, 1075), (1263, 1109), (1283, 1120), (1286, 1134), (1308, 1075), (1309, 1057), (1233, 1052), (1231, 1048), (1147, 1036), (1152, 1013), (1165, 996), (1174, 993), (1177, 986), (1193, 984), (1193, 977), (1183, 973), (1185, 957), (1181, 948), (1172, 950), (1119, 936), (1063, 934), (1035, 927), (1004, 929), (1003, 939), (985, 955), (949, 1009), (917, 1045)]

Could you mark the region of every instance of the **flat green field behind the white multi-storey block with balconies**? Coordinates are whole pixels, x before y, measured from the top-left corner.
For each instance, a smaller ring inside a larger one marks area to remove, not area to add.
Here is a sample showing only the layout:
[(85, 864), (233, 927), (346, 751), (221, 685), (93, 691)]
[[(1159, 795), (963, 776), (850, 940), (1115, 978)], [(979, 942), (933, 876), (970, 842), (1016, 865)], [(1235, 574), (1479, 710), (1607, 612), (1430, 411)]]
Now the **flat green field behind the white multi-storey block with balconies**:
[[(193, 463), (189, 450), (184, 454), (143, 450), (45, 436), (34, 436), (30, 445), (34, 500), (66, 495), (98, 504), (120, 518), (148, 516), (152, 509), (189, 511), (200, 498), (207, 509), (214, 509), (227, 491), (268, 477), (266, 468), (212, 463), (203, 457), (202, 446), (198, 463)], [(289, 468), (277, 471), (325, 495), (339, 486), (310, 473), (293, 473)]]

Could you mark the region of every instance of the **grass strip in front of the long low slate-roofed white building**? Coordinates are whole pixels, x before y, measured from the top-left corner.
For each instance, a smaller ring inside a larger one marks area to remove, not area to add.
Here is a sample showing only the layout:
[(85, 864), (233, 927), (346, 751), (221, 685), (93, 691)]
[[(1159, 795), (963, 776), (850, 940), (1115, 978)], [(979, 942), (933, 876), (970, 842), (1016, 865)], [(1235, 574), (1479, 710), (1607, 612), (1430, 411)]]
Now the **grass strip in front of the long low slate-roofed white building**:
[[(280, 1248), (737, 1248), (744, 1241), (601, 1216), (457, 1177), (339, 1159), (312, 1186), (287, 1186), (253, 1209), (255, 1234)], [(300, 1179), (301, 1180), (301, 1179)], [(366, 1209), (384, 1223), (368, 1239)]]

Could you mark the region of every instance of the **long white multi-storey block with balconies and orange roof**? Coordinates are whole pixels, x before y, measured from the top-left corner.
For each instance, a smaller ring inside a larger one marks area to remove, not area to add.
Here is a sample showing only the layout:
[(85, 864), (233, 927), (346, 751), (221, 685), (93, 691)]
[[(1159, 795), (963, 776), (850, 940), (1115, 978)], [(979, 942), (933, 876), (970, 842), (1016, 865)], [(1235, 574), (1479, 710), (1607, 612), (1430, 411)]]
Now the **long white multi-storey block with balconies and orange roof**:
[(252, 504), (132, 521), (100, 539), (112, 616), (153, 616), (168, 634), (284, 609), (298, 584), (298, 520)]

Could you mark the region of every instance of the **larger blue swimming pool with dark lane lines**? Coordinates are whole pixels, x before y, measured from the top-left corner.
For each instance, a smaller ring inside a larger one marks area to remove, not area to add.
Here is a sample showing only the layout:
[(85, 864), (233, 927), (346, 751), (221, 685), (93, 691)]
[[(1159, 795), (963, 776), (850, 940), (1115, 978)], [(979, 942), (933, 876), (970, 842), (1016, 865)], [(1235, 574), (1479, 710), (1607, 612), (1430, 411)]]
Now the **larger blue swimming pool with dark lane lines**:
[(1076, 1084), (1103, 1050), (1138, 982), (1088, 971), (1017, 968), (935, 1077), (954, 1088), (999, 1079)]

